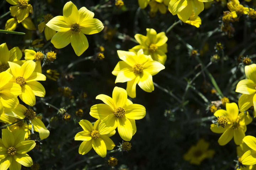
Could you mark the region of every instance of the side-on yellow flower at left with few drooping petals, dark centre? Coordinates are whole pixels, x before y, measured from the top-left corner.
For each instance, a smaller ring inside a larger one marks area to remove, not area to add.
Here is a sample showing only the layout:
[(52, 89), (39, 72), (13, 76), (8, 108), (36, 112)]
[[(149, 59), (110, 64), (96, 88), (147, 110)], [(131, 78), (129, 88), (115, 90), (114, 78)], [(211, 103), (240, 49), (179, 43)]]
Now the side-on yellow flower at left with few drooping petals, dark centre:
[(36, 112), (34, 112), (32, 109), (27, 109), (22, 104), (18, 104), (15, 109), (7, 110), (4, 113), (11, 117), (18, 119), (26, 118), (27, 120), (31, 121), (35, 131), (39, 133), (41, 140), (47, 138), (50, 134), (42, 120), (36, 116)]

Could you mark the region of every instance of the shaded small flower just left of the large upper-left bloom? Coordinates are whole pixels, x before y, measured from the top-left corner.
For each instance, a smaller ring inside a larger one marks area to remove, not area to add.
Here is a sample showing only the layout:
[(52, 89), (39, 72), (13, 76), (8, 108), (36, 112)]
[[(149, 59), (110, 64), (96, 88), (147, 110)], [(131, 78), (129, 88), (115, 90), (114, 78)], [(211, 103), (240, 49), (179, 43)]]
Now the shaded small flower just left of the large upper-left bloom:
[(39, 25), (38, 25), (38, 30), (40, 31), (40, 33), (43, 32), (44, 30), (44, 35), (46, 37), (46, 40), (50, 40), (52, 39), (53, 35), (56, 33), (55, 30), (53, 29), (50, 29), (49, 27), (46, 26), (46, 24), (53, 18), (52, 15), (50, 14), (47, 14), (44, 16), (44, 21), (41, 22)]

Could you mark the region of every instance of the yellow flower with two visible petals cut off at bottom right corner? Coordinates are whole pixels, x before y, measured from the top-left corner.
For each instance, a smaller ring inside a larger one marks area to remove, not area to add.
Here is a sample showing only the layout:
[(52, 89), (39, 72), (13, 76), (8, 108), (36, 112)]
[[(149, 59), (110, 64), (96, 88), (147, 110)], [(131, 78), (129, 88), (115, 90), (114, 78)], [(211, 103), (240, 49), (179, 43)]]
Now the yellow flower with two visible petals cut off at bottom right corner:
[(245, 136), (243, 141), (251, 150), (246, 151), (241, 157), (241, 163), (243, 165), (255, 165), (256, 164), (256, 138), (254, 136)]

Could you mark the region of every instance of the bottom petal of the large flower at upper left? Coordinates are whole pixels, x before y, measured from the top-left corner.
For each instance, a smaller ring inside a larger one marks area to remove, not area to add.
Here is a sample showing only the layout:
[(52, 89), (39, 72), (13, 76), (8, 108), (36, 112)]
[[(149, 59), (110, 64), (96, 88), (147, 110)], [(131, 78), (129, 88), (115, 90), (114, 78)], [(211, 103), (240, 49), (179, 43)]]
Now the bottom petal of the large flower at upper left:
[(79, 34), (72, 34), (70, 40), (71, 45), (77, 56), (81, 56), (82, 53), (84, 53), (85, 50), (87, 50), (89, 47), (86, 36), (81, 32)]

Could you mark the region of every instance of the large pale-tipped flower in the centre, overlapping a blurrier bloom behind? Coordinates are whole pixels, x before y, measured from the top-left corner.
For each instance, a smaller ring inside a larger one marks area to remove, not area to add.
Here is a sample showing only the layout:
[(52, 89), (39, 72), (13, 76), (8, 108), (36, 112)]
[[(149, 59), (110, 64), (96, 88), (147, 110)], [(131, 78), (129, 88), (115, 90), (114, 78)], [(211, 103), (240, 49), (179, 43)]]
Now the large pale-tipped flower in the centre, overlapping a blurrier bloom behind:
[(112, 71), (116, 75), (116, 82), (124, 83), (127, 81), (127, 94), (136, 97), (136, 84), (146, 92), (154, 90), (152, 75), (157, 74), (165, 67), (157, 62), (152, 61), (150, 56), (146, 56), (143, 50), (138, 53), (118, 50), (117, 54), (123, 61), (119, 61)]

